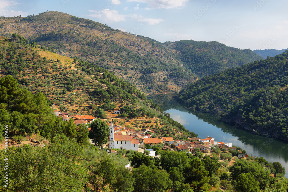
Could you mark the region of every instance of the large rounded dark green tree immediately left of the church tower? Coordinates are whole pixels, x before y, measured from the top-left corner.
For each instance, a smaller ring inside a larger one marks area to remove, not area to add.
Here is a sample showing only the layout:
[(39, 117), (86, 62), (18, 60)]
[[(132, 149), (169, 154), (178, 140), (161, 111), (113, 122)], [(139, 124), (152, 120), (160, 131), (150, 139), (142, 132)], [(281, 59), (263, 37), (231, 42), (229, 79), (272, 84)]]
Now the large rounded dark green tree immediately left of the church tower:
[(105, 121), (96, 119), (90, 123), (91, 131), (89, 132), (89, 138), (95, 142), (95, 144), (102, 146), (108, 142), (109, 139), (109, 127)]

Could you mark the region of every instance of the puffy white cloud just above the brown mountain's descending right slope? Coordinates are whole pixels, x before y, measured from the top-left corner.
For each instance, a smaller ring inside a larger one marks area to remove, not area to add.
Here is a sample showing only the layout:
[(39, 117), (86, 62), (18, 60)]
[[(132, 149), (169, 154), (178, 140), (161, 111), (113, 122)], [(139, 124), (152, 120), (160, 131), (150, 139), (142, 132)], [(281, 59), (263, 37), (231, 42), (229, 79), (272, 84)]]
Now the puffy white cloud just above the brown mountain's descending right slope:
[(118, 11), (116, 10), (110, 10), (110, 9), (104, 9), (102, 11), (95, 11), (95, 10), (89, 10), (89, 12), (94, 12), (95, 14), (90, 14), (88, 16), (90, 17), (96, 17), (99, 19), (102, 19), (105, 22), (119, 22), (119, 21), (125, 21), (126, 15), (120, 15)]

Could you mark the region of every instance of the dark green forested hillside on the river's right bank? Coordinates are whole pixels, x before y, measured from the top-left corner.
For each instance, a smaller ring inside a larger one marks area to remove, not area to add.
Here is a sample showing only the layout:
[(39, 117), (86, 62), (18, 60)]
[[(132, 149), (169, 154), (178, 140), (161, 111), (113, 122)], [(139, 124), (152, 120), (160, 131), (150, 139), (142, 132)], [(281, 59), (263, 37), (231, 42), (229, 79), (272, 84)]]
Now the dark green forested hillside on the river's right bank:
[(287, 53), (205, 77), (187, 85), (177, 100), (187, 108), (288, 140)]

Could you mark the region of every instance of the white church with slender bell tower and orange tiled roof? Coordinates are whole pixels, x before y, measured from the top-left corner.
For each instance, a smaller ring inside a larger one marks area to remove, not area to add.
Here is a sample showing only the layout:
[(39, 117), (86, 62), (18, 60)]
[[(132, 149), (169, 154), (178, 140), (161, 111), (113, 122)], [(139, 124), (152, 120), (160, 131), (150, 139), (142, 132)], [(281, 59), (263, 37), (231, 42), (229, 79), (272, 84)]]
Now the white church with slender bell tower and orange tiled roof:
[(133, 151), (138, 151), (139, 140), (133, 139), (132, 135), (115, 135), (115, 126), (111, 121), (111, 126), (109, 128), (109, 149), (132, 149)]

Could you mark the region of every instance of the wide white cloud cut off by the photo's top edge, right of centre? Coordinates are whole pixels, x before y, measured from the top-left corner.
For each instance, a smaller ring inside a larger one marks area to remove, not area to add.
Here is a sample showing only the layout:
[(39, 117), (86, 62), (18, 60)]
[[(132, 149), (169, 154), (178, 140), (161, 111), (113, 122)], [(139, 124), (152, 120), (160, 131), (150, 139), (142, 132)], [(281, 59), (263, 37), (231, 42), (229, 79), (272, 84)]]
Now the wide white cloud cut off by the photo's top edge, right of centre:
[(128, 2), (147, 3), (146, 9), (182, 8), (189, 0), (128, 0)]

